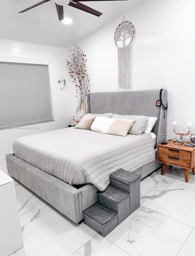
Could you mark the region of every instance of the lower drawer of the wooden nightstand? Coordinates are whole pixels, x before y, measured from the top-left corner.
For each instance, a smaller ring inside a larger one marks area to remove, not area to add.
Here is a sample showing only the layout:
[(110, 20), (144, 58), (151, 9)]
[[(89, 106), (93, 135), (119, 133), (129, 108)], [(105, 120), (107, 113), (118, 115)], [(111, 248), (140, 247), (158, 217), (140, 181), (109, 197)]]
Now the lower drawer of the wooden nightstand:
[(164, 162), (170, 165), (182, 166), (183, 168), (190, 168), (190, 159), (183, 159), (172, 155), (159, 154), (159, 162)]

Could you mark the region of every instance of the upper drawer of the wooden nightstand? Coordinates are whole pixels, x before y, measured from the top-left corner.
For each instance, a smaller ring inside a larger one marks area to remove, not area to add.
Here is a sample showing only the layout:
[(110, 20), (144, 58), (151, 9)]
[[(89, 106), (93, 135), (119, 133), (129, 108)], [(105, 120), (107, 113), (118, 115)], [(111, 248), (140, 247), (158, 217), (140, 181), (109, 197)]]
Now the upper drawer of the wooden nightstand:
[(168, 155), (175, 158), (182, 158), (190, 161), (191, 154), (189, 151), (183, 151), (174, 148), (159, 147), (159, 155)]

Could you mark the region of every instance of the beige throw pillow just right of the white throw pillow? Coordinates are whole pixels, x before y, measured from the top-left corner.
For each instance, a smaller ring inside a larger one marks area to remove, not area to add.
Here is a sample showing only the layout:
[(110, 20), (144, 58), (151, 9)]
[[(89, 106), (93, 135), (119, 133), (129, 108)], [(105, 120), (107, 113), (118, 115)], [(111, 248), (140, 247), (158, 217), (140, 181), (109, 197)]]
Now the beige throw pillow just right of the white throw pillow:
[(135, 120), (116, 119), (107, 134), (125, 137)]

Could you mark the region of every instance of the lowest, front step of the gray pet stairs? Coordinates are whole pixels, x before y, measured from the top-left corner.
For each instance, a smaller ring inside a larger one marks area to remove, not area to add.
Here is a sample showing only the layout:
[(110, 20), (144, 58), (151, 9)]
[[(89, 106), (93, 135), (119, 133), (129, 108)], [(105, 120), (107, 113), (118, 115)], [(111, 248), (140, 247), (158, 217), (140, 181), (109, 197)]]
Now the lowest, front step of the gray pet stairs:
[(95, 203), (83, 212), (85, 224), (102, 236), (107, 236), (118, 225), (117, 212)]

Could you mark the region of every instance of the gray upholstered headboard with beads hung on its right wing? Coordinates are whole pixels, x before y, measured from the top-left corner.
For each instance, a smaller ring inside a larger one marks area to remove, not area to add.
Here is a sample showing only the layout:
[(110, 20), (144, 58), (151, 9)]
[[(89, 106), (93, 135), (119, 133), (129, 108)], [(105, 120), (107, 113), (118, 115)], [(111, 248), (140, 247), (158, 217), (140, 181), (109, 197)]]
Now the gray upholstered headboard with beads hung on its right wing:
[[(157, 135), (157, 143), (164, 141), (166, 134), (167, 113), (156, 106), (159, 90), (90, 93), (87, 113), (113, 113), (120, 115), (146, 115), (158, 117), (152, 132)], [(167, 100), (167, 90), (162, 91), (162, 101)]]

